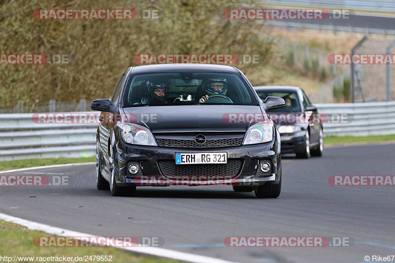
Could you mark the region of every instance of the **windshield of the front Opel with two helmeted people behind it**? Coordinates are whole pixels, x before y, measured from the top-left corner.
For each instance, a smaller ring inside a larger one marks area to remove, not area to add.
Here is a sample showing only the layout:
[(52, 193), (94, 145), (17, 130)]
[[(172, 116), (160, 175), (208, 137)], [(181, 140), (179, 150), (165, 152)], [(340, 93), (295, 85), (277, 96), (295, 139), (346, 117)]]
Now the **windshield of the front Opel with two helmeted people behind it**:
[(258, 103), (247, 83), (233, 73), (160, 72), (134, 75), (126, 83), (123, 107)]

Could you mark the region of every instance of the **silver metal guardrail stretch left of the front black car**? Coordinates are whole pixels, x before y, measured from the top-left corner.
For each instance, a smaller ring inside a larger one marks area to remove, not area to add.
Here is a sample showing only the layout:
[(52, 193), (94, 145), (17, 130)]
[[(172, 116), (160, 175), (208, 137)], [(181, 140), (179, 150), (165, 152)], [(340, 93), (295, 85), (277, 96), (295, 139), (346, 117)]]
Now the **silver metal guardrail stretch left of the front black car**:
[(33, 114), (0, 114), (0, 161), (95, 155), (97, 124), (35, 123)]

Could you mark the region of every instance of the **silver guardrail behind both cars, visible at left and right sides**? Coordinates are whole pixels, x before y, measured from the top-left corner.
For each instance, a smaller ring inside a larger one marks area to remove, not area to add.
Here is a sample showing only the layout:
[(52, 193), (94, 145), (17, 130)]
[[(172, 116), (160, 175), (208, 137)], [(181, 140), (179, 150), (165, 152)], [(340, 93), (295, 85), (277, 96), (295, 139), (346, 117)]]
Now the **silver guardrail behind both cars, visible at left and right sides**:
[[(316, 104), (319, 113), (347, 114), (347, 123), (324, 123), (324, 136), (395, 134), (395, 102)], [(89, 114), (92, 112), (86, 112)], [(95, 155), (97, 124), (40, 124), (33, 113), (0, 114), (0, 161)]]

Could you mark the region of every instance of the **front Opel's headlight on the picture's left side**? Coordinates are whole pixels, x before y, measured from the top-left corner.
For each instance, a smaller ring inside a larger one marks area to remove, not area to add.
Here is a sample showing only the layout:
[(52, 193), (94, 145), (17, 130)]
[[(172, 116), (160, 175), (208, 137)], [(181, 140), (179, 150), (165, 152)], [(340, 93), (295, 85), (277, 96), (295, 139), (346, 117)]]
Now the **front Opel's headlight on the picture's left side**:
[(118, 126), (120, 137), (125, 143), (158, 146), (154, 135), (146, 127), (131, 123), (118, 124)]

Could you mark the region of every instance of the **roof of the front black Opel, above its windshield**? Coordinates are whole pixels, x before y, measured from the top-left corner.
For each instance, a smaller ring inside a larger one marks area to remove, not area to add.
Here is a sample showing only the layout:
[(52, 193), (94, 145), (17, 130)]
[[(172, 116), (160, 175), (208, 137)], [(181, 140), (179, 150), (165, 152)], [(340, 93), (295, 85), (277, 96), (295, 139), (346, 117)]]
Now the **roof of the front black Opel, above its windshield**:
[(237, 69), (227, 65), (213, 64), (155, 64), (133, 67), (133, 74), (150, 73), (150, 72), (166, 72), (166, 71), (220, 71), (237, 73)]

